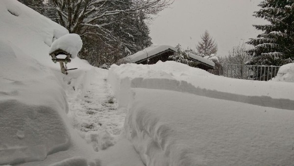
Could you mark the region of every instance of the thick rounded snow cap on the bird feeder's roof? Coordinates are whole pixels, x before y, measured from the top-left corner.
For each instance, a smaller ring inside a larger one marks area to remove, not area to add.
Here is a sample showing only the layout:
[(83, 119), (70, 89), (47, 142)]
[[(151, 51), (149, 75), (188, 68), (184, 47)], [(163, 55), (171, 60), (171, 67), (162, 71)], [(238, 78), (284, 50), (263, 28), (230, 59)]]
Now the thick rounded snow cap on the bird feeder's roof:
[(78, 34), (66, 34), (55, 40), (49, 50), (49, 54), (53, 51), (62, 49), (72, 55), (72, 58), (77, 56), (77, 53), (82, 49), (83, 42)]

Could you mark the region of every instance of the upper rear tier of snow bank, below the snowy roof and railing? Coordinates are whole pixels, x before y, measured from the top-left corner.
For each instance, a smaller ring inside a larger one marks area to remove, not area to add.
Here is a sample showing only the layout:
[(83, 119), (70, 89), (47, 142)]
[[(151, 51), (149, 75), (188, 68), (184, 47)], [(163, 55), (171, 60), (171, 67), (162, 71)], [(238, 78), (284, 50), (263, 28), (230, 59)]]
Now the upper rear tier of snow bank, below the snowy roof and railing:
[(148, 88), (294, 110), (290, 83), (226, 78), (173, 61), (155, 65), (113, 65), (109, 69), (109, 81), (122, 107), (128, 103), (123, 94), (129, 93), (130, 88)]

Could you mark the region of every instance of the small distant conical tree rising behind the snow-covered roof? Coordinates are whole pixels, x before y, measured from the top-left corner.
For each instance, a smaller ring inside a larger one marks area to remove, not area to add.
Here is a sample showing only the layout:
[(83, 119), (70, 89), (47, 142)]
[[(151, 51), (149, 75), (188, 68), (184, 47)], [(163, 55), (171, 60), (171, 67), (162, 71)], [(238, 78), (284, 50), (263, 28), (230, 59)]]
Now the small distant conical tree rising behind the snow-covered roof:
[(209, 56), (216, 54), (218, 51), (218, 44), (212, 39), (207, 30), (201, 35), (201, 42), (196, 46), (199, 56)]

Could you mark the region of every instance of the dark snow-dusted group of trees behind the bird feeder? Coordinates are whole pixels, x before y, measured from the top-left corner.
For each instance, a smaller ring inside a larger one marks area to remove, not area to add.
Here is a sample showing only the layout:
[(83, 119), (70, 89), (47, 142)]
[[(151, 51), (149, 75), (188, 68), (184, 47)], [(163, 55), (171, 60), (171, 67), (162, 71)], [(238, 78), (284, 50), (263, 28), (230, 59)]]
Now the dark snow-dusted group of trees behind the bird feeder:
[(111, 65), (149, 47), (150, 15), (173, 0), (19, 0), (42, 15), (79, 34), (79, 57), (93, 66)]

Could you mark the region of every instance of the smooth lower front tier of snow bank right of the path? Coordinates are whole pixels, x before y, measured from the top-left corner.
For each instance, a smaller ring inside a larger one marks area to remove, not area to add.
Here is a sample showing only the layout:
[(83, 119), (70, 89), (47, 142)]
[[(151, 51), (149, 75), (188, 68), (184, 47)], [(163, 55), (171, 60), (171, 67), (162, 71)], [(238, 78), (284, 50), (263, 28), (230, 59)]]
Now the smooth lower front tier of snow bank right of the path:
[(147, 166), (294, 160), (293, 111), (174, 91), (134, 88), (132, 94), (125, 132)]

